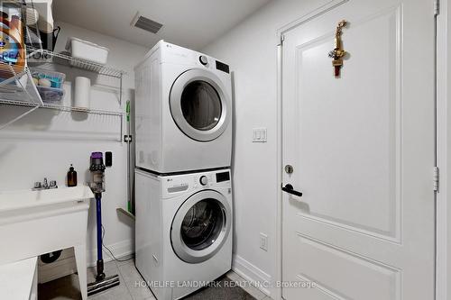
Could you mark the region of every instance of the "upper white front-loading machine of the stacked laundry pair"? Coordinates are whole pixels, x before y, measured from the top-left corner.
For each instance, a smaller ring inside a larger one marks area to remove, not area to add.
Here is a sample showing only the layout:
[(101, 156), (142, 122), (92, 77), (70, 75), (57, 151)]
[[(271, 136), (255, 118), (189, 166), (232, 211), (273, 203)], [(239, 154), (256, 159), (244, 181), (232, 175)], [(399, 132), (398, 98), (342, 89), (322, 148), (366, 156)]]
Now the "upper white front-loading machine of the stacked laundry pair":
[(134, 70), (136, 166), (159, 174), (230, 167), (229, 67), (159, 41)]

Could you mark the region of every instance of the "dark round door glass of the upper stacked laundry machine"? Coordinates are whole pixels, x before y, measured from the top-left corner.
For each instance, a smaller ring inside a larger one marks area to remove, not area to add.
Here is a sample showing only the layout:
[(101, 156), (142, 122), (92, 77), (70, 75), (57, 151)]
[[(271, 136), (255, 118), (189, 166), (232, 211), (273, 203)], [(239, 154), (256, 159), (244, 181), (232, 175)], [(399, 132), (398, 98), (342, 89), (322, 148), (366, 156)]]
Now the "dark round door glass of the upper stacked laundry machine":
[(221, 99), (206, 81), (190, 82), (181, 94), (180, 106), (185, 120), (199, 131), (214, 128), (222, 114)]

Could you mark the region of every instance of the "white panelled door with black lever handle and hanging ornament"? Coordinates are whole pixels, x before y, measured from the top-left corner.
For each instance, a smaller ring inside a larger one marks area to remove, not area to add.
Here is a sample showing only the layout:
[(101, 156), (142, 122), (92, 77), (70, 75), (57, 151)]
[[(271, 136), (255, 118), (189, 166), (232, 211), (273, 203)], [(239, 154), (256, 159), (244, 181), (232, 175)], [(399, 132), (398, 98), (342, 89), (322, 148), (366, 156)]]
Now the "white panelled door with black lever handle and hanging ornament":
[[(282, 279), (314, 283), (282, 295), (433, 300), (433, 0), (317, 13), (282, 44), (282, 186), (303, 193), (282, 193)], [(344, 19), (335, 77), (327, 54)]]

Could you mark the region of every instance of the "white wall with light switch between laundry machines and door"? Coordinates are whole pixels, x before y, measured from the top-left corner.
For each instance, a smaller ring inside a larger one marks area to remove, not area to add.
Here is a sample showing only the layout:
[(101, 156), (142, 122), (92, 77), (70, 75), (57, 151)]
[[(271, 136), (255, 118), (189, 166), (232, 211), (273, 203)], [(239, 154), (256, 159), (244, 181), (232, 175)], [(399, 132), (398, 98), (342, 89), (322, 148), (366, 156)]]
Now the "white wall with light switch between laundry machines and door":
[[(203, 52), (230, 64), (235, 78), (235, 270), (253, 280), (279, 280), (276, 252), (277, 30), (328, 1), (273, 1)], [(267, 127), (268, 142), (253, 143), (253, 128)], [(269, 236), (268, 251), (259, 234)], [(275, 290), (263, 290), (272, 293)]]

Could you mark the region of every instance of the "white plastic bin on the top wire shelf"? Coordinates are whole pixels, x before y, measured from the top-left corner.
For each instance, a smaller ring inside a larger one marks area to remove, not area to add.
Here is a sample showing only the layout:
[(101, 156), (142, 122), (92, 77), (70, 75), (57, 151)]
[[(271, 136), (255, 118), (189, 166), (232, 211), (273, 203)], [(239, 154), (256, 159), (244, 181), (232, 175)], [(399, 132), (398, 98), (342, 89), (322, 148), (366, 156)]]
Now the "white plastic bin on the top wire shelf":
[[(74, 37), (68, 39), (66, 50), (71, 53), (73, 58), (86, 59), (101, 65), (106, 64), (109, 52), (109, 49), (106, 47)], [(77, 62), (72, 62), (72, 65), (77, 65)]]

